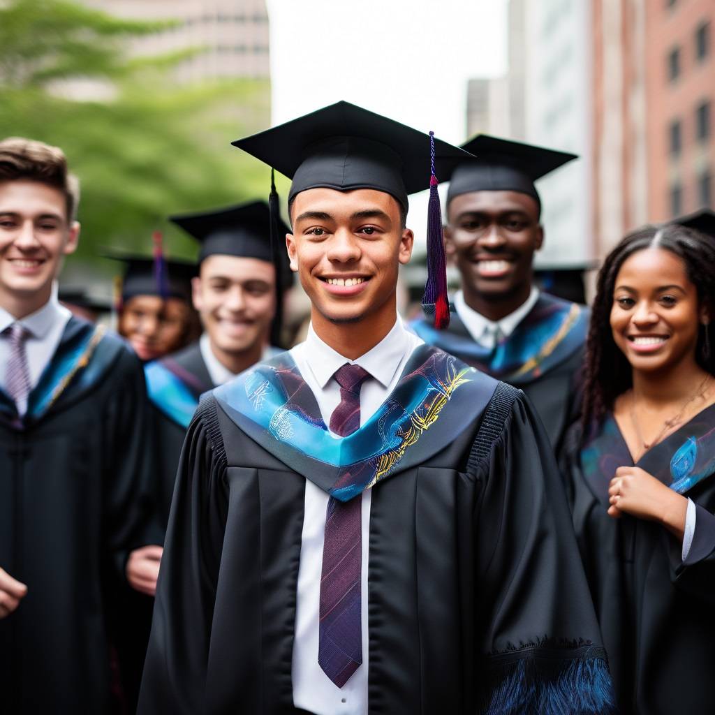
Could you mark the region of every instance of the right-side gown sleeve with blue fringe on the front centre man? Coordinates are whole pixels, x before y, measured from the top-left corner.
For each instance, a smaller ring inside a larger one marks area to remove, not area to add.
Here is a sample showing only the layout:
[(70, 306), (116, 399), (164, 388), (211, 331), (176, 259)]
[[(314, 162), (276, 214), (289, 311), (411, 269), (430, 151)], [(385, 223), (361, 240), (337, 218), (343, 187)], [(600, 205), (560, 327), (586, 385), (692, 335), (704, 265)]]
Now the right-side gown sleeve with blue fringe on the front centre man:
[(478, 478), (480, 712), (613, 712), (563, 482), (523, 393)]

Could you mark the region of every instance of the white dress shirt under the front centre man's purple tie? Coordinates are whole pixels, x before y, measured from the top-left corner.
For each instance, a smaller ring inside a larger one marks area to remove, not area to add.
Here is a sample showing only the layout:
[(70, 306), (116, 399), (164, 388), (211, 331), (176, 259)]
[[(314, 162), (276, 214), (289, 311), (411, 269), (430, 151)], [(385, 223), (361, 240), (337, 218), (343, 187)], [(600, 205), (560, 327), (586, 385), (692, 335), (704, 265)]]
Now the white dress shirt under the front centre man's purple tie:
[[(332, 379), (345, 363), (360, 365), (370, 373), (360, 390), (360, 424), (378, 410), (395, 389), (413, 350), (422, 344), (417, 335), (405, 329), (400, 317), (388, 335), (357, 360), (348, 360), (308, 329), (305, 342), (290, 351), (300, 374), (315, 395), (322, 419), (330, 424), (330, 415), (340, 403), (340, 386)], [(332, 433), (331, 433), (332, 434)], [(333, 435), (340, 439), (337, 435)], [(362, 593), (363, 664), (350, 680), (338, 688), (317, 662), (320, 574), (325, 539), (325, 511), (328, 495), (311, 481), (305, 482), (305, 513), (298, 567), (295, 640), (293, 642), (293, 703), (315, 715), (365, 715), (368, 712), (368, 556), (370, 543), (370, 503), (372, 490), (363, 492), (362, 511)], [(356, 497), (357, 498), (357, 497)]]

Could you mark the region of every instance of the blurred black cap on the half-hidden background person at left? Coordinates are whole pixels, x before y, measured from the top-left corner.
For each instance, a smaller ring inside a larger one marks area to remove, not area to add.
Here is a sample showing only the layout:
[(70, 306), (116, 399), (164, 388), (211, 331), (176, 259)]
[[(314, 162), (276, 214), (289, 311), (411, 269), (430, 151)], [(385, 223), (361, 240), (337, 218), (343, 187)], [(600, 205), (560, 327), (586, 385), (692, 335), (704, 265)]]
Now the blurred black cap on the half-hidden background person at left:
[(182, 298), (191, 301), (191, 279), (196, 275), (194, 263), (164, 260), (165, 282), (157, 282), (157, 261), (155, 257), (104, 251), (102, 255), (121, 261), (126, 266), (122, 279), (122, 302), (136, 295), (158, 295), (159, 297)]

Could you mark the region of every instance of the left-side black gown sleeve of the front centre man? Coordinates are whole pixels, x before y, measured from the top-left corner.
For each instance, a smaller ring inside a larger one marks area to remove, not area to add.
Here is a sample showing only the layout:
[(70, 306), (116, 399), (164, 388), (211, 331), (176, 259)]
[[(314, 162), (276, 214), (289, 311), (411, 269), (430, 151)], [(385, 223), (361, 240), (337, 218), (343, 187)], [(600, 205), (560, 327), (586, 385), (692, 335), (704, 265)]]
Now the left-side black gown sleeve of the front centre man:
[(226, 455), (214, 399), (202, 400), (177, 473), (138, 713), (203, 711), (226, 521)]

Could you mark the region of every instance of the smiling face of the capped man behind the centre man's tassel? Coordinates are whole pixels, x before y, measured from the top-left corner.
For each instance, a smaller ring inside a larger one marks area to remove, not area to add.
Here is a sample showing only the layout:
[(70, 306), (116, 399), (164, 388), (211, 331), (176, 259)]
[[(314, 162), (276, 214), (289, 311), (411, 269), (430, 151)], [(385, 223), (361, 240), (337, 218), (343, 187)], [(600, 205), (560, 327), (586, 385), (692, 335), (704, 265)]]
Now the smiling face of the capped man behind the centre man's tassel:
[(516, 191), (475, 191), (448, 206), (445, 251), (465, 292), (498, 301), (531, 287), (534, 252), (543, 243), (538, 204)]

